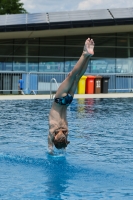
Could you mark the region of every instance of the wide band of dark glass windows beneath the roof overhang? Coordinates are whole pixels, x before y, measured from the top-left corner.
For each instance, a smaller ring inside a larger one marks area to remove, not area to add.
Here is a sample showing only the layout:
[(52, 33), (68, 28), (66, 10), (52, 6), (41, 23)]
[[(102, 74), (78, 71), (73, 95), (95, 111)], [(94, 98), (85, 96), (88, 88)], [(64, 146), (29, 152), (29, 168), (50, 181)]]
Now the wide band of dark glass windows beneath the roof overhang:
[(95, 42), (95, 54), (86, 73), (133, 73), (132, 33), (0, 40), (0, 71), (68, 73), (88, 37)]

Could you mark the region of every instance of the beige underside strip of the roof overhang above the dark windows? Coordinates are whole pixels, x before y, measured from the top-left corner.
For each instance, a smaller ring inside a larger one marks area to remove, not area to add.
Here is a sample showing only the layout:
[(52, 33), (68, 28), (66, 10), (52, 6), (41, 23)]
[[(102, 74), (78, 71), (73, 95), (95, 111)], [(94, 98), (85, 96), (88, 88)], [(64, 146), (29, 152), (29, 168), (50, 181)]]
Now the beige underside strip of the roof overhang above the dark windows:
[(38, 37), (55, 37), (69, 35), (90, 35), (102, 33), (122, 33), (133, 32), (133, 25), (119, 26), (101, 26), (87, 28), (69, 28), (57, 30), (40, 30), (40, 31), (17, 31), (17, 32), (0, 32), (0, 39), (16, 39), (16, 38), (38, 38)]

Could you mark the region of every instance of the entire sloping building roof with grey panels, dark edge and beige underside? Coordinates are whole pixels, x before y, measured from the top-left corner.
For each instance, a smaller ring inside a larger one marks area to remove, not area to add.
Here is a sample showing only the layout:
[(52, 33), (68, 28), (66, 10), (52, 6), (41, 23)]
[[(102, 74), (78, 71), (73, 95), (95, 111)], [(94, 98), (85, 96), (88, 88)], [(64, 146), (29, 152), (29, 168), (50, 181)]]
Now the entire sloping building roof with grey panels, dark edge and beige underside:
[(133, 8), (0, 16), (0, 39), (133, 32)]

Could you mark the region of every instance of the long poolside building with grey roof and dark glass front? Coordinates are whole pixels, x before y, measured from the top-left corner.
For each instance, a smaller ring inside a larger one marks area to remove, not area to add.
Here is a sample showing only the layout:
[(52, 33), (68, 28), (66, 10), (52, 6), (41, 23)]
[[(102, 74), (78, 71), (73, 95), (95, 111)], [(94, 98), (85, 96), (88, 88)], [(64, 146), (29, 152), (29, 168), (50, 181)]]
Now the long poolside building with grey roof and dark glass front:
[[(8, 88), (6, 82), (14, 85), (12, 75), (4, 81), (7, 73), (68, 73), (88, 37), (95, 42), (95, 55), (87, 74), (132, 79), (132, 13), (133, 8), (125, 8), (0, 16), (0, 90)], [(127, 82), (132, 88), (133, 81)], [(116, 89), (116, 84), (110, 88)]]

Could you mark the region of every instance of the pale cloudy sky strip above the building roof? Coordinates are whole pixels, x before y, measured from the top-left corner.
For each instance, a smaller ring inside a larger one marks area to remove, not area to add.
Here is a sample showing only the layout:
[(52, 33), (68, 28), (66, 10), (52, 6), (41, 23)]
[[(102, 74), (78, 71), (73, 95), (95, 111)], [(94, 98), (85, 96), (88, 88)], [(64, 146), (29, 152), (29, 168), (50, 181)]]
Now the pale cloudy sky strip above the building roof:
[(28, 13), (131, 8), (133, 0), (21, 0)]

